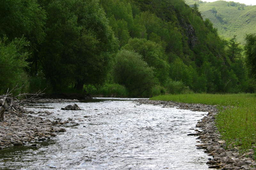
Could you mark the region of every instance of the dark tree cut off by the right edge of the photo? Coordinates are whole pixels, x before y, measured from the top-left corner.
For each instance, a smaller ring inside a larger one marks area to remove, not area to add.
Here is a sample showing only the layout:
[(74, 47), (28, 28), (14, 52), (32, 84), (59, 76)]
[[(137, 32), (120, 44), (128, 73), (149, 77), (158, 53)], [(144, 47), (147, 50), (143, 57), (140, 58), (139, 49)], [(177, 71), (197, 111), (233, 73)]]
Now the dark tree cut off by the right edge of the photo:
[(245, 36), (244, 51), (246, 55), (246, 65), (252, 78), (256, 78), (256, 34)]

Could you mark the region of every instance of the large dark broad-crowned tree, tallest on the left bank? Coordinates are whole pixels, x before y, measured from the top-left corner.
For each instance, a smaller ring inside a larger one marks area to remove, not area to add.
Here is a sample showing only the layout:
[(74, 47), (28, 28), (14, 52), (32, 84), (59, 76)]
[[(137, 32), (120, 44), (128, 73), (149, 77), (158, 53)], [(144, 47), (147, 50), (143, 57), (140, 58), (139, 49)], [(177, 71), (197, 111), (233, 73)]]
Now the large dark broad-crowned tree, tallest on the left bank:
[(45, 4), (47, 36), (40, 49), (46, 78), (54, 90), (72, 83), (102, 84), (117, 41), (95, 0), (55, 0)]

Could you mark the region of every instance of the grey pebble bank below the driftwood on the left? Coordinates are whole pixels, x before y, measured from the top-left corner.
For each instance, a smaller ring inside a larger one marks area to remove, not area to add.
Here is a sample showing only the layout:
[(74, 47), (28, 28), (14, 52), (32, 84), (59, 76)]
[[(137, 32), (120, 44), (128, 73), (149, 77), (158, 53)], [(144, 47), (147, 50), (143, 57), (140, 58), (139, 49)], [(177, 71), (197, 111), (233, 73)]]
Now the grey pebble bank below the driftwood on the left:
[(49, 114), (52, 113), (49, 111), (37, 113), (5, 112), (4, 121), (0, 122), (0, 150), (13, 145), (36, 146), (35, 142), (45, 141), (55, 137), (58, 132), (65, 131), (58, 126), (69, 123), (69, 121), (62, 121), (59, 118), (51, 121), (47, 119)]

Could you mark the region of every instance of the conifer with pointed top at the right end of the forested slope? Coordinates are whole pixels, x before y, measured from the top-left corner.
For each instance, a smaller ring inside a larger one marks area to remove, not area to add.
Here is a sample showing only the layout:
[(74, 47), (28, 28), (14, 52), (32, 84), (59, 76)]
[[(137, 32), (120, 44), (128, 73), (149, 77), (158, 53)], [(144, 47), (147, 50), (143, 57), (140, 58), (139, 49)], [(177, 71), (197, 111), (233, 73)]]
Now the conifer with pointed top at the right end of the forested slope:
[(241, 56), (241, 52), (243, 49), (239, 47), (239, 45), (240, 43), (237, 43), (236, 41), (236, 35), (234, 35), (233, 38), (228, 41), (227, 54), (232, 62), (235, 62), (235, 59), (238, 56)]

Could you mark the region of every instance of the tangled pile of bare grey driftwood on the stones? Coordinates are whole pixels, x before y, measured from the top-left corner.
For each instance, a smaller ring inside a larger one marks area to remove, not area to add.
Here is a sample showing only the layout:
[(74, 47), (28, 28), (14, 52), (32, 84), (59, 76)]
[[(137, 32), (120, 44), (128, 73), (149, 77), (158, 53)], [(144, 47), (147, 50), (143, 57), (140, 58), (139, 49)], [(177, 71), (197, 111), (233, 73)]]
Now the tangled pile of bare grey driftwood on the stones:
[[(22, 87), (22, 86), (21, 86)], [(20, 88), (21, 88), (20, 87)], [(39, 99), (38, 96), (43, 95), (43, 91), (38, 91), (35, 94), (30, 93), (19, 93), (16, 96), (13, 96), (11, 92), (18, 90), (20, 88), (17, 88), (17, 85), (9, 91), (7, 90), (7, 93), (5, 95), (0, 95), (0, 121), (4, 121), (4, 112), (8, 111), (11, 113), (27, 113), (27, 110), (22, 107), (21, 105), (31, 104), (32, 102), (35, 102), (34, 100)]]

